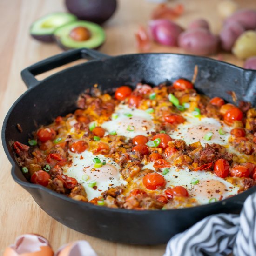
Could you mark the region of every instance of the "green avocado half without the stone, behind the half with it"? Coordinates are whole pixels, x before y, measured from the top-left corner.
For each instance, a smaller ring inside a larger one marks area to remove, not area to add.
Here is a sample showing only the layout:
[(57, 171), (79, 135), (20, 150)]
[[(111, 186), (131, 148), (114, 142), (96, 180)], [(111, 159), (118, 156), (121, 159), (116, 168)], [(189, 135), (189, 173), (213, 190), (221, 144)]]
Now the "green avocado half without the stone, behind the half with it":
[(51, 13), (33, 22), (29, 29), (30, 35), (43, 42), (53, 42), (53, 33), (57, 27), (77, 20), (77, 17), (70, 13)]

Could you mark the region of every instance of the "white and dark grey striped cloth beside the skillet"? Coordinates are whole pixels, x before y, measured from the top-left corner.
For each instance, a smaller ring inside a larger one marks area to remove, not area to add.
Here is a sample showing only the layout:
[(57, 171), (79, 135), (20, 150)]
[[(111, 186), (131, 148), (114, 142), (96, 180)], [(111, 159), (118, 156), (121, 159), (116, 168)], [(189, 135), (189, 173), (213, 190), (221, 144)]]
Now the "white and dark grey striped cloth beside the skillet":
[(167, 244), (164, 256), (256, 256), (256, 193), (236, 214), (204, 218)]

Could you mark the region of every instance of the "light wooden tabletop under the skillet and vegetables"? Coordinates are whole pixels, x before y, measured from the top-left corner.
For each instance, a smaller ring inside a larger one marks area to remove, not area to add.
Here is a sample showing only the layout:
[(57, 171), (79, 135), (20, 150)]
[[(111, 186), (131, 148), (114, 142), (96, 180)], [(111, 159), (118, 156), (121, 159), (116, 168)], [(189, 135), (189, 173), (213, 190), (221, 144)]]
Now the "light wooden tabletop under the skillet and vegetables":
[[(175, 6), (178, 2), (183, 3), (185, 7), (185, 13), (177, 20), (180, 25), (186, 27), (189, 21), (195, 18), (205, 18), (210, 22), (212, 31), (219, 32), (222, 24), (222, 19), (216, 11), (219, 0), (173, 0), (170, 5)], [(237, 2), (241, 7), (256, 8), (255, 0)], [(146, 0), (119, 0), (118, 10), (105, 24), (107, 40), (101, 47), (101, 52), (111, 55), (138, 52), (134, 33), (140, 24), (147, 24), (155, 6), (155, 3)], [(43, 44), (30, 38), (30, 24), (44, 14), (62, 10), (65, 10), (64, 0), (0, 1), (0, 123), (13, 102), (26, 91), (20, 71), (37, 61), (62, 52), (54, 44)], [(156, 44), (151, 51), (183, 53), (181, 49)], [(220, 55), (213, 57), (220, 58)], [(243, 65), (243, 61), (237, 60), (231, 54), (221, 54), (221, 58), (223, 61)], [(40, 75), (39, 79), (59, 69)], [(13, 181), (10, 168), (4, 150), (0, 147), (0, 254), (7, 245), (13, 243), (16, 236), (23, 233), (45, 236), (54, 250), (64, 243), (85, 239), (99, 256), (163, 254), (165, 245), (134, 246), (112, 243), (67, 228), (48, 216), (33, 198)]]

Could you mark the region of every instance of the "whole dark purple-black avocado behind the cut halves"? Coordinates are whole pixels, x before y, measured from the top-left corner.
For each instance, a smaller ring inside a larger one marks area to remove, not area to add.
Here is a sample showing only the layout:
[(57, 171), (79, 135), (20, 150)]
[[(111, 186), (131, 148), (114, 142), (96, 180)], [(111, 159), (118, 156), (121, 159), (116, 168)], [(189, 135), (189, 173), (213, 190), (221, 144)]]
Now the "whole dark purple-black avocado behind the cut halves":
[(67, 10), (80, 20), (102, 24), (116, 10), (116, 0), (65, 0)]

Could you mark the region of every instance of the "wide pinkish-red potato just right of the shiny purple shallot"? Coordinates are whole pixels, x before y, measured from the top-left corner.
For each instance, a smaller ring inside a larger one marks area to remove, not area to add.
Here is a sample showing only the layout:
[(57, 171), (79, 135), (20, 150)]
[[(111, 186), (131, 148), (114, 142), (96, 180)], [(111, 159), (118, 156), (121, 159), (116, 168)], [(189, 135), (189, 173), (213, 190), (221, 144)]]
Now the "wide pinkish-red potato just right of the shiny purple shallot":
[(191, 54), (215, 54), (219, 38), (204, 28), (190, 29), (179, 35), (178, 45)]

